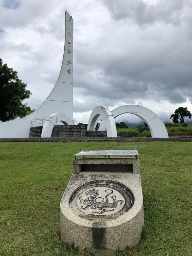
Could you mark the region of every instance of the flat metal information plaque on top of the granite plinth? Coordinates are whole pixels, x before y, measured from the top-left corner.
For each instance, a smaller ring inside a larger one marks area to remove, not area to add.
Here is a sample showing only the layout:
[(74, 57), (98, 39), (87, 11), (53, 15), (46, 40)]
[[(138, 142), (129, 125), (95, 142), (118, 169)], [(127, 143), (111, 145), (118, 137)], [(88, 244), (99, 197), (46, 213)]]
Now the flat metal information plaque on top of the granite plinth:
[(95, 156), (95, 155), (124, 155), (124, 156), (138, 156), (137, 150), (91, 150), (91, 151), (81, 151), (74, 156)]

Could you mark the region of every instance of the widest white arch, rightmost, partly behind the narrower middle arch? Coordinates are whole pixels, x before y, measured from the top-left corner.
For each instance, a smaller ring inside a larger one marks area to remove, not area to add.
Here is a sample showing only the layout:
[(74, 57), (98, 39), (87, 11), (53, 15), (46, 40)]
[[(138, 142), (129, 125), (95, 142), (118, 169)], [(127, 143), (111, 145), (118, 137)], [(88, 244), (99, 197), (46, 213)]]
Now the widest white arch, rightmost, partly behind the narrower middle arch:
[[(115, 108), (111, 111), (111, 113), (113, 114), (114, 118), (125, 113), (134, 114), (140, 117), (145, 123), (147, 123), (153, 138), (169, 137), (163, 121), (156, 115), (156, 113), (148, 108), (139, 105), (124, 105)], [(106, 124), (104, 121), (102, 121), (99, 127), (99, 131), (104, 131), (105, 128)]]

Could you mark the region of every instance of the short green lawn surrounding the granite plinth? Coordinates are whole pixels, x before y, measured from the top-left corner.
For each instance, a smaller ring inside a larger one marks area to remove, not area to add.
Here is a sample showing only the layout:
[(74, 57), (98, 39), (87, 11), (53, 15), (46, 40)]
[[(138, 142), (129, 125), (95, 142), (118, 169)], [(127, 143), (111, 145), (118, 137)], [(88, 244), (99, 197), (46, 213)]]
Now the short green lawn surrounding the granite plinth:
[(140, 244), (116, 255), (192, 255), (192, 143), (155, 141), (0, 143), (0, 255), (81, 255), (60, 241), (60, 199), (73, 155), (108, 149), (138, 150), (144, 198)]

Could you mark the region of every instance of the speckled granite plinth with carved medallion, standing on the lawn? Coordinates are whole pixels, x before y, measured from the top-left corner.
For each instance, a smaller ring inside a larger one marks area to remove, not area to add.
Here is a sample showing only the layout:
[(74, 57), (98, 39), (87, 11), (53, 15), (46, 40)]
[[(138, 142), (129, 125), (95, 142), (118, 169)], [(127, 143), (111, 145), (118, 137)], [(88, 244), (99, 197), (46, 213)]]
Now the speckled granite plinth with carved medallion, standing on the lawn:
[(61, 239), (79, 245), (80, 252), (114, 255), (118, 246), (121, 250), (139, 243), (144, 224), (138, 152), (115, 158), (110, 156), (117, 152), (102, 151), (103, 158), (85, 158), (88, 152), (75, 155), (83, 158), (73, 161), (60, 202)]

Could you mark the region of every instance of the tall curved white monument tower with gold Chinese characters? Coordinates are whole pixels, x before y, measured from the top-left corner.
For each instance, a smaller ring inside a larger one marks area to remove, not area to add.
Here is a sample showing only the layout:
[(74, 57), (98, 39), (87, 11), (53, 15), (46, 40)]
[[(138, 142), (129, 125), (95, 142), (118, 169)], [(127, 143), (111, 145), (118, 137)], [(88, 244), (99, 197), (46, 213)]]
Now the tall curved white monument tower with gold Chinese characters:
[[(73, 124), (73, 19), (65, 12), (65, 47), (60, 75), (44, 103), (30, 115), (0, 123), (0, 138), (28, 138), (30, 127), (43, 126), (48, 117), (64, 113), (61, 119)], [(61, 116), (61, 115), (60, 115)], [(57, 121), (60, 121), (57, 116)]]

